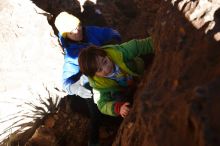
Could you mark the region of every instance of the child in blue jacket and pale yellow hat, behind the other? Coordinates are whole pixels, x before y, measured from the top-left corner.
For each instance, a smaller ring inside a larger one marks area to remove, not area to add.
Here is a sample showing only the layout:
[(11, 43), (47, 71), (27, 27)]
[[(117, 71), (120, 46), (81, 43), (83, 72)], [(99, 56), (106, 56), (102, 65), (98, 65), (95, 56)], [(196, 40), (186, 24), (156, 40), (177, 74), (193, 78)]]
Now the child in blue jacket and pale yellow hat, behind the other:
[(82, 26), (75, 16), (61, 12), (55, 19), (55, 26), (59, 31), (59, 41), (64, 49), (63, 87), (74, 96), (85, 98), (90, 111), (91, 128), (89, 145), (99, 143), (100, 112), (94, 103), (92, 93), (87, 86), (88, 79), (79, 70), (78, 55), (82, 48), (89, 45), (103, 45), (112, 40), (119, 42), (120, 34), (111, 28)]

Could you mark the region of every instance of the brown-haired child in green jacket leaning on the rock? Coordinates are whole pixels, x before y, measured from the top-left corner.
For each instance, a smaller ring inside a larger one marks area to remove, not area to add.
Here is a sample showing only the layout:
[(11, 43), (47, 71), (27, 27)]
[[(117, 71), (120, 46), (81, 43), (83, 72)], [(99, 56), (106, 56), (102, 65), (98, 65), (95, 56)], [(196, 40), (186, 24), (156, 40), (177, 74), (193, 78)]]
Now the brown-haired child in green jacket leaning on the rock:
[(128, 115), (130, 103), (124, 93), (144, 71), (144, 62), (138, 56), (153, 53), (151, 37), (121, 45), (90, 46), (80, 52), (80, 70), (89, 77), (94, 100), (103, 114)]

